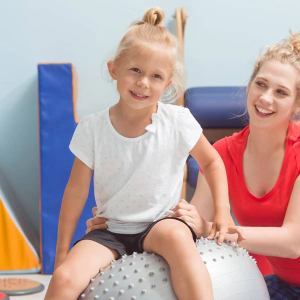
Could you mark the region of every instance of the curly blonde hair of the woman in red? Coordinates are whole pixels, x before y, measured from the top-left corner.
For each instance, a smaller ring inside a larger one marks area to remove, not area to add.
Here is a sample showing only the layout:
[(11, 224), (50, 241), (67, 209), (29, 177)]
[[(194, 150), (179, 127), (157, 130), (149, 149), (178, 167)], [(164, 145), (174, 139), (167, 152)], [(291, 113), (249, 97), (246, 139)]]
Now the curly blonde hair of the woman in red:
[[(300, 32), (292, 33), (289, 30), (290, 36), (282, 40), (281, 43), (266, 46), (266, 49), (258, 56), (254, 70), (252, 72), (250, 82), (252, 82), (260, 70), (264, 62), (269, 60), (277, 60), (283, 63), (289, 63), (298, 72), (297, 78), (297, 96), (295, 99), (295, 106), (300, 105)], [(296, 115), (292, 116), (294, 119)]]

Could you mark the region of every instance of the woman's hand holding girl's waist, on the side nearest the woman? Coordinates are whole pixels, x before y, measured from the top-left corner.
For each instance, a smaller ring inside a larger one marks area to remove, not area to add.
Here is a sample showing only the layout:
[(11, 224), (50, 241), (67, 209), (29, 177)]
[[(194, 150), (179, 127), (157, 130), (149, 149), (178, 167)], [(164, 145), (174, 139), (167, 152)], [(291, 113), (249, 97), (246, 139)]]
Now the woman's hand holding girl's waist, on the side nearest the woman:
[(181, 199), (172, 210), (174, 213), (169, 215), (169, 217), (177, 217), (185, 221), (193, 229), (197, 238), (208, 235), (210, 229), (208, 222), (198, 214), (194, 205)]

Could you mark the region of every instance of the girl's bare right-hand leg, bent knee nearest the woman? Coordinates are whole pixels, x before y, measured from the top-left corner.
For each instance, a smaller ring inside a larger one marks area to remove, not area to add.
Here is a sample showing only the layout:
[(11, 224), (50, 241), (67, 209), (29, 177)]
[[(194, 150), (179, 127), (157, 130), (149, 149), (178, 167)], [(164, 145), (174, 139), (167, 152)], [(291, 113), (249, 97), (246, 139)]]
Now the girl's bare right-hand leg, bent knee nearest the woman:
[(144, 238), (143, 248), (168, 262), (179, 300), (213, 300), (209, 273), (183, 222), (167, 218), (157, 222)]

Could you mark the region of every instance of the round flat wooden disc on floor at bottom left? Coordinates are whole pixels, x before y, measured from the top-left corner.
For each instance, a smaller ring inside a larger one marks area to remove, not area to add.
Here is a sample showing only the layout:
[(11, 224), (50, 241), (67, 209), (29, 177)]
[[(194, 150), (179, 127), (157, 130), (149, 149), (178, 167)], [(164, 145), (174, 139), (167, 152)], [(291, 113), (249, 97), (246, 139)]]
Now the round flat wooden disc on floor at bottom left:
[(41, 283), (31, 279), (25, 279), (25, 278), (0, 279), (0, 292), (3, 292), (10, 296), (36, 293), (42, 291), (43, 289), (44, 286)]

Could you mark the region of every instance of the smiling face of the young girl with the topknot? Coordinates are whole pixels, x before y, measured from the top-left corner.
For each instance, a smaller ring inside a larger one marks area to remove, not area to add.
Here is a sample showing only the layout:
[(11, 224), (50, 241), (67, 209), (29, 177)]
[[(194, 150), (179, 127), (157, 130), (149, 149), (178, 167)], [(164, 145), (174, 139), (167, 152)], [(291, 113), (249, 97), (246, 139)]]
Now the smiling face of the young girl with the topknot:
[(108, 62), (111, 77), (116, 80), (120, 100), (133, 109), (156, 105), (171, 83), (171, 63), (162, 50), (141, 46), (138, 51), (120, 59), (118, 65)]

